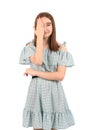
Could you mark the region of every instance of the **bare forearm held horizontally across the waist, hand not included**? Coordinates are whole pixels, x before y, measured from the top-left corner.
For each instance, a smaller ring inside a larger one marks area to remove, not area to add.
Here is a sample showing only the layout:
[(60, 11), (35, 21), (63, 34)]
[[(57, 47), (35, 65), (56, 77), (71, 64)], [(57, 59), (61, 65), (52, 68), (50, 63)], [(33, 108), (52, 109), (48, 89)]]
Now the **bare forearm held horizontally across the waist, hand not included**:
[(36, 71), (36, 76), (47, 80), (57, 80), (57, 81), (62, 81), (64, 78), (64, 75), (58, 71), (56, 72)]

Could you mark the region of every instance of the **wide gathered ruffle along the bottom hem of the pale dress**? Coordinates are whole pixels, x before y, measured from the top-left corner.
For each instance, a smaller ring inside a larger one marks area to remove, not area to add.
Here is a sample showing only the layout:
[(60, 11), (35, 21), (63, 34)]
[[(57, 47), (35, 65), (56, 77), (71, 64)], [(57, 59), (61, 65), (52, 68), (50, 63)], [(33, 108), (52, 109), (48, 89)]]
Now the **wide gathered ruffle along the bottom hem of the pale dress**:
[(65, 129), (74, 125), (74, 119), (70, 110), (62, 112), (32, 112), (27, 108), (23, 111), (23, 126), (42, 128), (46, 130)]

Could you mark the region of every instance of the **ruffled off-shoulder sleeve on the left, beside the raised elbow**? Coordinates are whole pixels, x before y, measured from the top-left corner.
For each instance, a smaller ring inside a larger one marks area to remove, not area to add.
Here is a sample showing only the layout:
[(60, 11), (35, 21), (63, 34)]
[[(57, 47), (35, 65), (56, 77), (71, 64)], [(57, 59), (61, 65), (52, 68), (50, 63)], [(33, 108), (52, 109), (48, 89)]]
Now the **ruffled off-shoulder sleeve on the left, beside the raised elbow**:
[(20, 54), (19, 64), (29, 65), (31, 63), (29, 57), (35, 53), (33, 45), (26, 45)]

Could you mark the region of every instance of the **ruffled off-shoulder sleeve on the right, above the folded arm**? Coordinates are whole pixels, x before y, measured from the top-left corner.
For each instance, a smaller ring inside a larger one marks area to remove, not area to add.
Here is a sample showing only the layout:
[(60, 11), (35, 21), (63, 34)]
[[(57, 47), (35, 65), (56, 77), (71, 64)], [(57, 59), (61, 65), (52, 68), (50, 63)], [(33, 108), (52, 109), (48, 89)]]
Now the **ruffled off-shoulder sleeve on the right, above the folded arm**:
[[(66, 42), (64, 42), (63, 45), (66, 46)], [(72, 67), (75, 65), (72, 54), (66, 50), (58, 51), (58, 66), (62, 65), (66, 67)]]

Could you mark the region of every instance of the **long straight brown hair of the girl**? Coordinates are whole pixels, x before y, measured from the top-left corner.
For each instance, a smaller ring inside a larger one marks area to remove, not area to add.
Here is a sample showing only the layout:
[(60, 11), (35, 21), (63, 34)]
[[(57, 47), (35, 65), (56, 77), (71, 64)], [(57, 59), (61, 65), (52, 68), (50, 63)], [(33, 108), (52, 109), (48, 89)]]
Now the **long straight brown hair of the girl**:
[[(50, 50), (53, 50), (53, 51), (57, 51), (59, 49), (59, 43), (56, 41), (56, 27), (55, 27), (55, 21), (54, 21), (54, 18), (51, 14), (49, 14), (48, 12), (41, 12), (37, 15), (36, 19), (35, 19), (35, 23), (34, 23), (34, 27), (36, 29), (36, 26), (37, 26), (37, 19), (38, 18), (42, 18), (42, 17), (47, 17), (48, 19), (51, 20), (52, 22), (52, 34), (51, 36), (49, 37), (48, 39), (48, 44), (49, 44), (49, 48)], [(37, 36), (34, 34), (34, 45), (36, 46), (36, 39), (37, 39)]]

